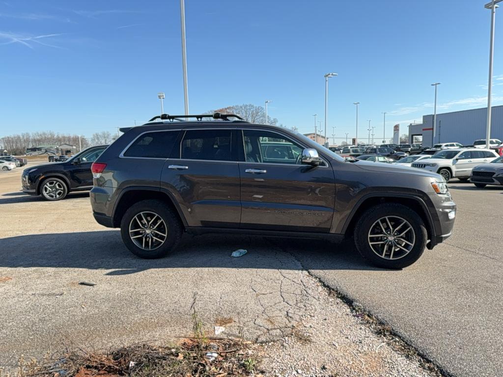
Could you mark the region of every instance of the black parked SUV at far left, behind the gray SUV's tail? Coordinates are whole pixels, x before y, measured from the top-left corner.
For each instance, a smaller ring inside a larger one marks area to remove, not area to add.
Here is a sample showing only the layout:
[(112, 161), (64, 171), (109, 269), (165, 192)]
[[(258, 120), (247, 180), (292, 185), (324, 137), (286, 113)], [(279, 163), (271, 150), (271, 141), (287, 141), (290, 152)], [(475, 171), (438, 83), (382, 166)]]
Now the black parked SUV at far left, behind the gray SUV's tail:
[(65, 161), (25, 169), (21, 176), (23, 192), (41, 195), (47, 200), (61, 200), (69, 192), (91, 190), (91, 164), (107, 147), (91, 147)]

